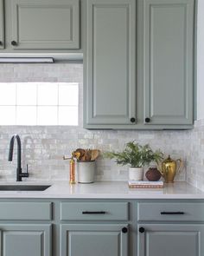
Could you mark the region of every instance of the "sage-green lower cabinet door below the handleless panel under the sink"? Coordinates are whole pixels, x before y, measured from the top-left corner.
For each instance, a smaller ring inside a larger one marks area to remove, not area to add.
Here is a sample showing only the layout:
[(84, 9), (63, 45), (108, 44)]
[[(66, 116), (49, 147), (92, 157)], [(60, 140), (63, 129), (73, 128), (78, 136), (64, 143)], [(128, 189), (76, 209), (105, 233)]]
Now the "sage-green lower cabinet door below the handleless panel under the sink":
[(0, 255), (51, 255), (51, 225), (0, 225)]

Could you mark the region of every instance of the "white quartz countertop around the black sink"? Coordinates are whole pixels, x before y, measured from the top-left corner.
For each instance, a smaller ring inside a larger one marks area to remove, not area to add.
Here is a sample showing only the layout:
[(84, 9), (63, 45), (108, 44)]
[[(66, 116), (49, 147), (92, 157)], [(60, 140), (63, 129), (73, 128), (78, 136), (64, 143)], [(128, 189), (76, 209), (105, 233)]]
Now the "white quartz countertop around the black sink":
[(69, 185), (68, 181), (0, 182), (0, 185), (51, 185), (45, 191), (0, 191), (0, 198), (49, 199), (204, 199), (204, 192), (187, 182), (165, 184), (163, 188), (129, 188), (125, 181), (97, 181)]

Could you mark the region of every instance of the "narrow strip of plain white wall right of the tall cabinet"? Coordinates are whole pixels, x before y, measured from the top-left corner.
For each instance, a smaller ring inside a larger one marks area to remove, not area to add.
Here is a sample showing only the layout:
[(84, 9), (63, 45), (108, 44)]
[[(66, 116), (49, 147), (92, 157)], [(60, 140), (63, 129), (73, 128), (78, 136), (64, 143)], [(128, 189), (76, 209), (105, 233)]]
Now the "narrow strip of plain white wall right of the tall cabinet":
[(204, 119), (204, 1), (198, 1), (197, 119)]

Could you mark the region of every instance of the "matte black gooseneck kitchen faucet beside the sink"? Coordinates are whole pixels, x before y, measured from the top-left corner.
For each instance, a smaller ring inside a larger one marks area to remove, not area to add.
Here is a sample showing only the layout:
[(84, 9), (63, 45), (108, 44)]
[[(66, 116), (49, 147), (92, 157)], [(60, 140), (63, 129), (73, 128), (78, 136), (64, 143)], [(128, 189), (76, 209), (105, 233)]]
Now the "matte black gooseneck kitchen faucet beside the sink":
[(13, 135), (10, 139), (10, 151), (8, 161), (13, 161), (14, 142), (17, 141), (17, 168), (16, 181), (22, 181), (22, 177), (29, 177), (28, 172), (22, 173), (22, 143), (19, 135)]

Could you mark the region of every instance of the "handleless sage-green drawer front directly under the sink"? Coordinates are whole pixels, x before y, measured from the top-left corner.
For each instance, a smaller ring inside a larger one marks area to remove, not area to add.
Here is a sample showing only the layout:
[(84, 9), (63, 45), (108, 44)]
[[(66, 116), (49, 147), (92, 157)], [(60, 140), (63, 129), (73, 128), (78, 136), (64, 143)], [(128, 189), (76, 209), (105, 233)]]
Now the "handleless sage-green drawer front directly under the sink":
[(0, 202), (0, 220), (52, 220), (52, 203)]

